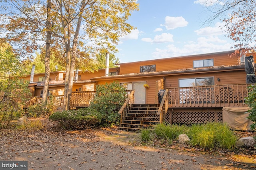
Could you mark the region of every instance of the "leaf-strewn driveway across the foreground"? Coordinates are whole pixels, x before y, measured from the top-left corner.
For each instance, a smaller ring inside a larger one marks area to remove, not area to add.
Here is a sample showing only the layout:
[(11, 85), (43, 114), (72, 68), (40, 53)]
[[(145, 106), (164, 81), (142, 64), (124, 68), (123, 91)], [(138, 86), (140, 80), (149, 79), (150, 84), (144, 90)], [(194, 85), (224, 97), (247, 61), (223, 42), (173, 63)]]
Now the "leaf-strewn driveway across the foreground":
[(29, 170), (252, 170), (256, 156), (147, 147), (140, 134), (118, 129), (0, 130), (0, 160), (28, 161)]

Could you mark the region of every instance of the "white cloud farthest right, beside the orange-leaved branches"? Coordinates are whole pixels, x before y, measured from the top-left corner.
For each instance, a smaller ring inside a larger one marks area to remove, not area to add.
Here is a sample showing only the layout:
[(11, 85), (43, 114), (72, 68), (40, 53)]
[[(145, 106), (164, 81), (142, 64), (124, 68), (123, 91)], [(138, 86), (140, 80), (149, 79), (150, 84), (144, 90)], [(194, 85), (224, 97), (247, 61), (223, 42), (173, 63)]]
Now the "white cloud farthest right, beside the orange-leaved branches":
[(196, 34), (200, 36), (210, 36), (210, 35), (222, 35), (224, 34), (221, 27), (224, 27), (223, 23), (216, 23), (215, 27), (204, 27), (196, 30)]

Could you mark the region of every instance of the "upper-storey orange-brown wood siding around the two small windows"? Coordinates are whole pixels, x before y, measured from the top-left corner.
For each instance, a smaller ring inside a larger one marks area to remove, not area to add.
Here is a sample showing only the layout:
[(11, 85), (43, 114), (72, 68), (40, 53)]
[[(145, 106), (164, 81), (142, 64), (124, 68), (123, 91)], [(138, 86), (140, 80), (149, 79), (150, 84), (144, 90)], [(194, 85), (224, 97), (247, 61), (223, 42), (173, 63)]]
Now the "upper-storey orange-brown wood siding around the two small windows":
[[(231, 53), (229, 53), (231, 54)], [(143, 62), (121, 64), (120, 74), (140, 73), (140, 66), (156, 64), (156, 71), (179, 70), (193, 68), (193, 61), (213, 59), (214, 66), (238, 65), (238, 57), (230, 57), (228, 53), (218, 55), (199, 55), (189, 57), (174, 57)]]

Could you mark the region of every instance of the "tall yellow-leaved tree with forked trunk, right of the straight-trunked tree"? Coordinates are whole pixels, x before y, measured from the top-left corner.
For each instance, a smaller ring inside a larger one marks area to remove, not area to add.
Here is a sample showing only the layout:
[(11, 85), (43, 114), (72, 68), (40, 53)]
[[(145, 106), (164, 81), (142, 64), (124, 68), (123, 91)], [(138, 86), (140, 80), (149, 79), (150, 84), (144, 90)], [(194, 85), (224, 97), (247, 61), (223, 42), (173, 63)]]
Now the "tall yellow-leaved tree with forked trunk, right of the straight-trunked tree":
[(118, 37), (133, 29), (126, 20), (131, 11), (138, 10), (138, 4), (134, 0), (60, 0), (55, 6), (60, 11), (58, 37), (66, 55), (63, 109), (67, 110), (77, 61), (103, 47), (116, 51)]

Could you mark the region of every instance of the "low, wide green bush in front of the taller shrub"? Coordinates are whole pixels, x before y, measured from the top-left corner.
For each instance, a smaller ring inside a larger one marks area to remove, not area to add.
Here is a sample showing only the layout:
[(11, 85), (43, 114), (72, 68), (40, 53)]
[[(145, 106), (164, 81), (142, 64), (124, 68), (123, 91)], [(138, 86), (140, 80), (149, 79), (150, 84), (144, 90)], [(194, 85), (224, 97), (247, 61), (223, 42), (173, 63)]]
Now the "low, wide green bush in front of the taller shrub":
[(99, 125), (102, 115), (90, 108), (58, 111), (50, 115), (50, 120), (58, 121), (65, 129), (85, 129)]

